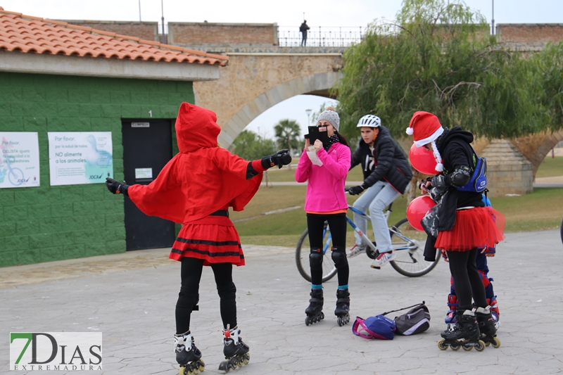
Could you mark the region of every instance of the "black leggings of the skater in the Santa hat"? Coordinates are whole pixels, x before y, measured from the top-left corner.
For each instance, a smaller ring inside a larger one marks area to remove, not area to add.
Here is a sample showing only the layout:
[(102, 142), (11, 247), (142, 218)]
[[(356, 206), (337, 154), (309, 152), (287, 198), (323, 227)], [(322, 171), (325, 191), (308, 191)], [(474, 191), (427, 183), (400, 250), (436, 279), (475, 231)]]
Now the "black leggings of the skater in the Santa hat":
[(457, 294), (457, 310), (471, 310), (472, 298), (477, 307), (487, 307), (485, 286), (475, 265), (478, 251), (480, 250), (477, 248), (469, 251), (448, 251), (450, 272)]

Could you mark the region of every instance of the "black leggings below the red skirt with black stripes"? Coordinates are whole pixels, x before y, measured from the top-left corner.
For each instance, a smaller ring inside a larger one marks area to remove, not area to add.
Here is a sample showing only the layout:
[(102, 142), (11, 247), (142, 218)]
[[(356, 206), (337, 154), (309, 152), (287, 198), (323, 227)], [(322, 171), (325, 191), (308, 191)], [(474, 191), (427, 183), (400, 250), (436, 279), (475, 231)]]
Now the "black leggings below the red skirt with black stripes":
[[(176, 303), (176, 333), (189, 331), (191, 311), (199, 301), (199, 281), (203, 260), (196, 258), (182, 258), (182, 287)], [(216, 263), (211, 265), (220, 298), (221, 319), (223, 328), (227, 324), (231, 328), (236, 326), (236, 288), (233, 283), (231, 263)]]

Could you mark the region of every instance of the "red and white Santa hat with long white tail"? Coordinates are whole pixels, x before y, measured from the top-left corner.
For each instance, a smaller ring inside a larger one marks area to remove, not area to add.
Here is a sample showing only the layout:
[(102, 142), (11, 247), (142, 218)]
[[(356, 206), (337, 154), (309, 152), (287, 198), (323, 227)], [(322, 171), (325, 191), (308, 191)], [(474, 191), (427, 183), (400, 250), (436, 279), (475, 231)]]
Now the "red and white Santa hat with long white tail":
[(434, 158), (436, 158), (436, 170), (442, 172), (444, 166), (442, 164), (442, 156), (438, 152), (436, 146), (436, 139), (444, 132), (444, 128), (440, 124), (438, 117), (435, 115), (419, 110), (412, 115), (409, 127), (407, 127), (407, 134), (412, 135), (415, 140), (415, 146), (422, 147), (425, 144), (431, 144), (434, 151)]

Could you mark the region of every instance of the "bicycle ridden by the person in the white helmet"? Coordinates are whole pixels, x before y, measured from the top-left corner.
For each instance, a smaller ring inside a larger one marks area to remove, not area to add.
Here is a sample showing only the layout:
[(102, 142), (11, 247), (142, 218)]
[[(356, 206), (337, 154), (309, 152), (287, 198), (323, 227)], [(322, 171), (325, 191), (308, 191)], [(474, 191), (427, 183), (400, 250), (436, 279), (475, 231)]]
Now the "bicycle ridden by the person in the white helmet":
[[(391, 215), (391, 203), (385, 212), (386, 220), (389, 220), (389, 215)], [(369, 220), (369, 215), (366, 215), (364, 212), (360, 210), (356, 210), (351, 205), (348, 205), (348, 210), (355, 212), (362, 217), (365, 217)], [(367, 243), (366, 248), (366, 255), (371, 258), (377, 258), (379, 255), (379, 250), (377, 250), (377, 244), (375, 241), (370, 241), (369, 238), (365, 233), (362, 233), (358, 226), (350, 219), (350, 217), (346, 216), (346, 221), (350, 224), (350, 227), (353, 227), (354, 231), (362, 237), (364, 243)], [(436, 254), (436, 260), (434, 262), (428, 262), (424, 260), (424, 243), (421, 244), (420, 241), (425, 239), (426, 234), (421, 231), (417, 231), (416, 229), (412, 228), (411, 225), (408, 223), (407, 218), (405, 217), (402, 220), (399, 220), (397, 224), (389, 227), (389, 232), (391, 234), (391, 243), (393, 245), (393, 250), (396, 251), (396, 259), (391, 260), (391, 267), (393, 267), (398, 273), (407, 276), (407, 277), (420, 277), (429, 273), (436, 265), (441, 258), (441, 253), (438, 251)], [(301, 276), (307, 280), (311, 281), (310, 275), (310, 265), (309, 265), (309, 253), (310, 253), (310, 246), (305, 246), (305, 254), (301, 253), (301, 248), (303, 248), (303, 243), (305, 240), (308, 239), (308, 229), (303, 231), (299, 241), (297, 243), (295, 258), (297, 263), (297, 269)], [(418, 239), (417, 239), (418, 237)], [(324, 223), (324, 230), (323, 230), (323, 248), (322, 253), (323, 255), (327, 255), (327, 250), (331, 248), (331, 234), (330, 228), (327, 222)], [(323, 256), (322, 260), (322, 282), (328, 281), (334, 277), (336, 274), (336, 267), (334, 267), (334, 263), (331, 260), (330, 256)]]

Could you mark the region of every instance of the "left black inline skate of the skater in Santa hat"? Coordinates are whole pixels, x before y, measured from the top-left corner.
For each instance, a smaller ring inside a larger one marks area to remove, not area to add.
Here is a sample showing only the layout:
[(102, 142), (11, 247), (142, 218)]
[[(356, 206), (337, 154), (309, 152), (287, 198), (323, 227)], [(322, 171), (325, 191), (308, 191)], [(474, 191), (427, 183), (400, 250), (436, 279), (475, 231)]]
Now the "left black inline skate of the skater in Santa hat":
[(458, 310), (455, 317), (457, 322), (453, 330), (440, 333), (443, 338), (438, 341), (438, 348), (446, 350), (450, 346), (452, 350), (472, 350), (475, 347), (479, 352), (485, 350), (485, 343), (480, 340), (481, 333), (475, 313), (471, 310)]

